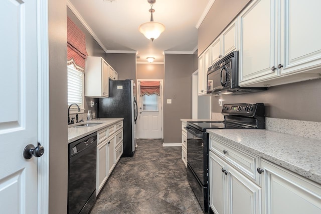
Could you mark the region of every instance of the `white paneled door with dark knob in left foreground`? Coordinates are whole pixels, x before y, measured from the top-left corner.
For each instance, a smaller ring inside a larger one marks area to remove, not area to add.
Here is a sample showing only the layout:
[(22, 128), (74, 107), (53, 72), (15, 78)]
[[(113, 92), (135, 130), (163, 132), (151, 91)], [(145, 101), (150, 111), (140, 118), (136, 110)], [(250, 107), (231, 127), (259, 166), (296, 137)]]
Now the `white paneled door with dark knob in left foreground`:
[(0, 207), (1, 213), (37, 213), (37, 2), (0, 2)]

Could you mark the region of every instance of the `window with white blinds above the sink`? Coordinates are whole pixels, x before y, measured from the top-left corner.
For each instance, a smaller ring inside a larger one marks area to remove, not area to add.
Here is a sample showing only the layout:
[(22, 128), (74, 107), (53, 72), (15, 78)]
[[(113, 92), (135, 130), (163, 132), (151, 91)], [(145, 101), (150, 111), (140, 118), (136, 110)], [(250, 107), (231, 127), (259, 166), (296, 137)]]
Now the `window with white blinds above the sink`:
[[(68, 106), (77, 103), (80, 109), (84, 109), (84, 73), (76, 70), (73, 64), (68, 65)], [(71, 109), (77, 106), (72, 105)]]

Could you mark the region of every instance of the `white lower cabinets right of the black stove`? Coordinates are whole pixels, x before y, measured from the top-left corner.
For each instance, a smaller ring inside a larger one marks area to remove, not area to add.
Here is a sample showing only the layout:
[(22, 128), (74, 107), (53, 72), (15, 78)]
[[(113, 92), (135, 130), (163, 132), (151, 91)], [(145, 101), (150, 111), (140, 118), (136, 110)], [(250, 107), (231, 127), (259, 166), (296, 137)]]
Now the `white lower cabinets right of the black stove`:
[(215, 214), (321, 213), (320, 184), (215, 136), (210, 135), (209, 144), (210, 207)]

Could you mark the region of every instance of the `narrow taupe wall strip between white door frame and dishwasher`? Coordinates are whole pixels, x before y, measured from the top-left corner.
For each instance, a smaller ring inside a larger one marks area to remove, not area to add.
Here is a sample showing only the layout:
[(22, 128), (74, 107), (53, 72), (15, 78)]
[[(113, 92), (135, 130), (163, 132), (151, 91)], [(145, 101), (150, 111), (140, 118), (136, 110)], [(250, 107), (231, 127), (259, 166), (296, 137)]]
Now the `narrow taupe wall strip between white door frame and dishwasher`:
[[(49, 213), (67, 213), (67, 17), (66, 0), (49, 8)], [(46, 149), (46, 148), (45, 148)], [(36, 205), (36, 204), (35, 204)]]

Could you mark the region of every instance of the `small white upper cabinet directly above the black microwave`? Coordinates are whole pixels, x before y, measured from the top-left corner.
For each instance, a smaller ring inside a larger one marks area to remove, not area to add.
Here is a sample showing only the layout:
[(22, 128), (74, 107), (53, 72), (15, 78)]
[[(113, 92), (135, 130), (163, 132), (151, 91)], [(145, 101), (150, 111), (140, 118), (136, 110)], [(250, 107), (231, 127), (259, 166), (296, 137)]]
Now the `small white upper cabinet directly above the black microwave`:
[(210, 45), (212, 57), (211, 65), (223, 56), (238, 49), (238, 19), (234, 20)]

